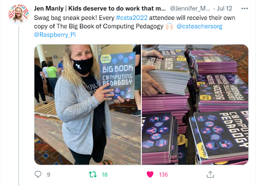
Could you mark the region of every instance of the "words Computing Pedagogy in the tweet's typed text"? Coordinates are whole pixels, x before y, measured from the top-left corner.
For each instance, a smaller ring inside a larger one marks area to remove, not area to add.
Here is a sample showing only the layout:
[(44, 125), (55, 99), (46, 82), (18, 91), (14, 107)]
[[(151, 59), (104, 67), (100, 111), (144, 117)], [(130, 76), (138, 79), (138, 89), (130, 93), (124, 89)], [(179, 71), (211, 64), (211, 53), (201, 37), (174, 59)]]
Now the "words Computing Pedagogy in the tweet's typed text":
[(161, 30), (163, 28), (162, 24), (103, 24), (103, 28), (108, 28), (108, 29), (131, 29), (133, 30), (134, 28), (142, 28), (142, 29), (157, 29)]

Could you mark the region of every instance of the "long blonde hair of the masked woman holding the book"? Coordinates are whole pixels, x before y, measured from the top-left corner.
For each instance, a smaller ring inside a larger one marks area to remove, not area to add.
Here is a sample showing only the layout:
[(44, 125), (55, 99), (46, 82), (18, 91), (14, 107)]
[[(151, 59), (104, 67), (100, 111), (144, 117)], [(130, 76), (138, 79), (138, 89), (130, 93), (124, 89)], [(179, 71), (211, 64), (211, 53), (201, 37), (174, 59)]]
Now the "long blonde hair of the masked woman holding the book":
[[(89, 45), (89, 48), (90, 48), (90, 45)], [(93, 57), (93, 64), (90, 69), (90, 74), (92, 74), (94, 77), (99, 79), (99, 65), (96, 61), (94, 54), (92, 53), (91, 48), (90, 48), (90, 52)], [(79, 86), (79, 85), (86, 86), (84, 81), (81, 79), (81, 77), (76, 73), (76, 71), (73, 68), (73, 63), (70, 59), (71, 53), (72, 53), (71, 45), (67, 44), (64, 49), (64, 57), (63, 57), (64, 72), (62, 73), (62, 76), (66, 78), (68, 81), (70, 81), (71, 83), (73, 83), (75, 86)]]

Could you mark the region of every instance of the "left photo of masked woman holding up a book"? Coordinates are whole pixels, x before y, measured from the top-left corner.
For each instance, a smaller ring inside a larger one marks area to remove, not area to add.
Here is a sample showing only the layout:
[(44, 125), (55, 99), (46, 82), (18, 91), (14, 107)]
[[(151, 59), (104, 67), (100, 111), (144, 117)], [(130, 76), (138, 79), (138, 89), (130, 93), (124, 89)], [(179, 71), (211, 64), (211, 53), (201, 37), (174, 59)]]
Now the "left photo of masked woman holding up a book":
[(38, 44), (34, 161), (141, 165), (140, 45)]

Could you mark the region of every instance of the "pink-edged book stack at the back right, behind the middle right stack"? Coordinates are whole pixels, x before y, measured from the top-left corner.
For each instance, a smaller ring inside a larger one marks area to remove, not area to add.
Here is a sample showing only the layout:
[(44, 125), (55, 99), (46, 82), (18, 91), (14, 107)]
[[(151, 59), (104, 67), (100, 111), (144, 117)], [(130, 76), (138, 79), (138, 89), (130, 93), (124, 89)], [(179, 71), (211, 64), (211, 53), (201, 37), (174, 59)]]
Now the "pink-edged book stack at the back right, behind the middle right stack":
[(236, 61), (228, 56), (195, 56), (195, 71), (198, 74), (236, 73)]

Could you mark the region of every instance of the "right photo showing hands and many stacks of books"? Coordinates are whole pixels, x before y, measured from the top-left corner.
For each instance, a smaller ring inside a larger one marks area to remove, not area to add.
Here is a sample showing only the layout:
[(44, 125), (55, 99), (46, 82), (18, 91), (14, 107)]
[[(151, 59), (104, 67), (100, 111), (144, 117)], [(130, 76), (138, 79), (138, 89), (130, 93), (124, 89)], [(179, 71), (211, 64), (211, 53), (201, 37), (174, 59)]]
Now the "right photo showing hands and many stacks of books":
[(142, 165), (248, 161), (248, 48), (142, 44)]

